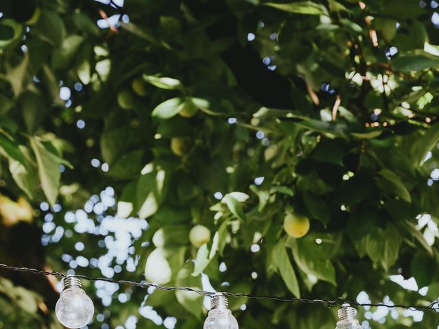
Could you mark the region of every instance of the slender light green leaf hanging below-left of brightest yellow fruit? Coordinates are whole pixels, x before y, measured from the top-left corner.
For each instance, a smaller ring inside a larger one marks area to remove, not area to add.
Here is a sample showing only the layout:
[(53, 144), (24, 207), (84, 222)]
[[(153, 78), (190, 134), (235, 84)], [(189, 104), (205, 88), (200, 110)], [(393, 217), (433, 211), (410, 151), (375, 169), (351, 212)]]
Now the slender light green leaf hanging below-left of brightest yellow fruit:
[(294, 273), (294, 269), (289, 261), (284, 241), (279, 241), (273, 247), (272, 257), (279, 273), (281, 273), (283, 282), (285, 282), (289, 291), (291, 291), (294, 296), (300, 298), (300, 289), (296, 273)]

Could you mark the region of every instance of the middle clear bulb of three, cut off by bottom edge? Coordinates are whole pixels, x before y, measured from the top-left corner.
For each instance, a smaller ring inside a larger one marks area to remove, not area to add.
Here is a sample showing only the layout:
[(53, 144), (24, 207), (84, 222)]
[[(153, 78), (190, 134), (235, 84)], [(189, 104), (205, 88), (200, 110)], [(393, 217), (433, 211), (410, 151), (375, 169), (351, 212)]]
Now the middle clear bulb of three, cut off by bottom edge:
[(204, 321), (204, 329), (239, 329), (238, 322), (228, 309), (226, 296), (215, 293), (211, 299), (211, 310)]

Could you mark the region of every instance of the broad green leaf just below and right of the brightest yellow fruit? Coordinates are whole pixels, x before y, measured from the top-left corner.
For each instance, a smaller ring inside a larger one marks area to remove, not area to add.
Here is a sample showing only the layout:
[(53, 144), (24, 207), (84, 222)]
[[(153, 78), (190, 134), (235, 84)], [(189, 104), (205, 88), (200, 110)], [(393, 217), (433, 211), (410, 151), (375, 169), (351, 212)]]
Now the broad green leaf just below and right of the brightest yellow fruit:
[(292, 246), (294, 261), (302, 271), (337, 285), (331, 260), (321, 250), (327, 246), (318, 245), (315, 239), (289, 239), (288, 244)]

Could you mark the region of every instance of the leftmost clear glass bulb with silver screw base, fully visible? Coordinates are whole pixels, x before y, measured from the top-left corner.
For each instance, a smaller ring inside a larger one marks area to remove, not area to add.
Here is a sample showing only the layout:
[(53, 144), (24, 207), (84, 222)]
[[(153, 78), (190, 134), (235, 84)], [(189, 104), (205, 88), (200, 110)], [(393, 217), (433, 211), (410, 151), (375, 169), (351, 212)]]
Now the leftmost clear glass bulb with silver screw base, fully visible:
[(62, 292), (55, 306), (58, 321), (67, 328), (78, 329), (86, 326), (95, 313), (95, 306), (81, 288), (80, 279), (66, 276), (62, 279)]

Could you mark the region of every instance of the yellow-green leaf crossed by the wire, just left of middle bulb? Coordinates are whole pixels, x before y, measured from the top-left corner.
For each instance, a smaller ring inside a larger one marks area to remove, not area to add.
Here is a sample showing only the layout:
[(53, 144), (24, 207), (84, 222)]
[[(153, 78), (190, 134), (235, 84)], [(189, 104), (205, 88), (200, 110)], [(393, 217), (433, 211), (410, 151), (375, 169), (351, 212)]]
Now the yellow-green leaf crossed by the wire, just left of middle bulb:
[[(193, 263), (186, 263), (184, 267), (178, 271), (176, 276), (177, 287), (189, 287), (192, 289), (202, 290), (201, 277), (194, 278), (191, 276), (193, 271)], [(192, 313), (197, 319), (201, 318), (203, 296), (192, 291), (176, 291), (178, 302)]]

